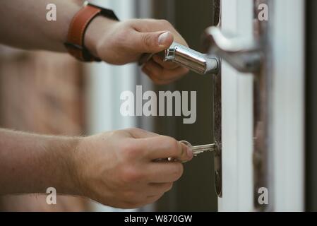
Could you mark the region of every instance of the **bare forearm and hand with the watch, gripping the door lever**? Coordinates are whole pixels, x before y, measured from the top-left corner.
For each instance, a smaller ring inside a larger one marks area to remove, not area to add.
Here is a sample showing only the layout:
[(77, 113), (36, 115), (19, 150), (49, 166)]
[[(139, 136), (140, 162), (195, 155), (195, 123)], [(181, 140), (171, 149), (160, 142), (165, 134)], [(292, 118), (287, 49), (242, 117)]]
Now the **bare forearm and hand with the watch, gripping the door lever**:
[[(0, 8), (0, 32), (4, 34), (0, 42), (23, 49), (66, 52), (64, 43), (68, 28), (82, 3), (80, 0), (4, 1)], [(56, 5), (56, 21), (47, 21), (47, 4)], [(118, 22), (98, 16), (85, 32), (85, 46), (95, 57), (119, 65), (138, 61), (143, 53), (161, 52), (174, 40), (187, 45), (166, 20), (132, 19)], [(164, 62), (155, 55), (143, 66), (143, 72), (155, 83), (166, 84), (184, 76), (188, 69)]]

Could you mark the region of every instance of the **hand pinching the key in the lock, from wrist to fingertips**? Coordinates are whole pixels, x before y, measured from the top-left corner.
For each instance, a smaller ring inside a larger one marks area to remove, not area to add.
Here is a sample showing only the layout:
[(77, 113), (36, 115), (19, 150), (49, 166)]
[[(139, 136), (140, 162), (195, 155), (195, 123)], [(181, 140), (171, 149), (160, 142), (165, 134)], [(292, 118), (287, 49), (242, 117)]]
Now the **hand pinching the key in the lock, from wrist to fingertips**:
[[(174, 157), (177, 161), (155, 161)], [(82, 138), (73, 154), (83, 196), (118, 208), (157, 201), (183, 173), (193, 153), (174, 138), (127, 129)]]

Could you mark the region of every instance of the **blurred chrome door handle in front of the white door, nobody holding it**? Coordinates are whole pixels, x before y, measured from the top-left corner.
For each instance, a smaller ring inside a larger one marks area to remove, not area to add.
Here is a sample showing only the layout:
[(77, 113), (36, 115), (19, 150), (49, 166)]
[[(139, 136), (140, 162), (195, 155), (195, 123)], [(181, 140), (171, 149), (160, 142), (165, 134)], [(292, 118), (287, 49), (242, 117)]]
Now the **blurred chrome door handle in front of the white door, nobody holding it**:
[(255, 72), (261, 66), (261, 44), (239, 37), (226, 37), (219, 28), (205, 30), (204, 50), (227, 61), (237, 71)]

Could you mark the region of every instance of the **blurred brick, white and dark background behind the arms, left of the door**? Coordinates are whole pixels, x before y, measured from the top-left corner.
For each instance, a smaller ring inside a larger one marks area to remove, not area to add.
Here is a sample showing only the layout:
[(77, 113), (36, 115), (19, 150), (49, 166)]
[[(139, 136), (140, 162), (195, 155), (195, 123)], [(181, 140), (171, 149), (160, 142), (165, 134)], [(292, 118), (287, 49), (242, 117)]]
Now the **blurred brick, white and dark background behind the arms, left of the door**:
[[(121, 20), (164, 18), (200, 49), (201, 34), (214, 25), (213, 0), (100, 0)], [(58, 9), (57, 9), (58, 10)], [(0, 49), (0, 127), (36, 133), (91, 135), (138, 127), (195, 144), (213, 142), (212, 76), (190, 73), (172, 85), (156, 86), (136, 64), (81, 64), (68, 54)], [(121, 117), (120, 94), (146, 90), (197, 91), (197, 121), (181, 117)], [(216, 211), (213, 155), (205, 153), (184, 165), (184, 175), (160, 201), (138, 211)], [(85, 198), (59, 196), (49, 206), (46, 196), (0, 196), (0, 210), (121, 211)]]

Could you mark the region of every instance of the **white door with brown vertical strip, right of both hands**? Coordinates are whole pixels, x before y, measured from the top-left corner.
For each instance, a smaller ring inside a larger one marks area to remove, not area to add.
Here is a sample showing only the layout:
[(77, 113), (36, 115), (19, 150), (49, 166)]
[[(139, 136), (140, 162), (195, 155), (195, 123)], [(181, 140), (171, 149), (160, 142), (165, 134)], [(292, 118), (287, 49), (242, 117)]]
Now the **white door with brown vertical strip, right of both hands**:
[(304, 1), (222, 0), (221, 30), (256, 43), (261, 64), (222, 59), (219, 210), (304, 210)]

